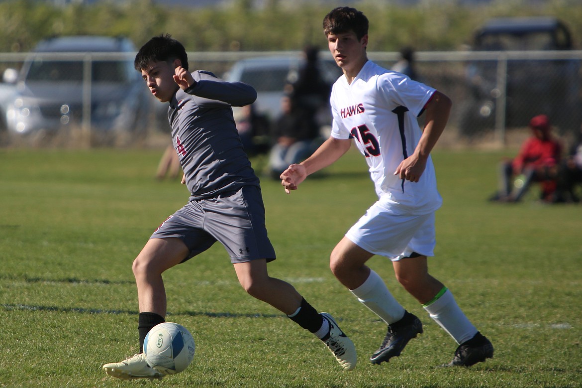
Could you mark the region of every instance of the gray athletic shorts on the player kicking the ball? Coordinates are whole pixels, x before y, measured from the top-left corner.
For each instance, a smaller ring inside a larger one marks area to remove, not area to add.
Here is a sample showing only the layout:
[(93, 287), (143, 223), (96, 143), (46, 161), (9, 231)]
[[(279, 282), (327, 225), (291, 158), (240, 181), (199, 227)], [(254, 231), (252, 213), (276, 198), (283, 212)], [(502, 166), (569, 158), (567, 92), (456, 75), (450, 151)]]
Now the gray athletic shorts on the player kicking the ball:
[(267, 237), (261, 189), (243, 186), (209, 199), (191, 200), (159, 225), (150, 238), (181, 239), (190, 249), (184, 261), (220, 242), (233, 263), (275, 260)]

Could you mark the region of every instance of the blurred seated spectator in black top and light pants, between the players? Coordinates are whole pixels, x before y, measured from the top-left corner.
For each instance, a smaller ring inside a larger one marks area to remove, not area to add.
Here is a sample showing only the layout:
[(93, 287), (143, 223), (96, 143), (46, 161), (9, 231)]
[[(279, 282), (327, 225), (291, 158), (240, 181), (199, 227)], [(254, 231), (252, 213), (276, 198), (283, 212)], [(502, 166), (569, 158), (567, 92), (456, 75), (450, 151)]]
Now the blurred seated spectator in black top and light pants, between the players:
[(319, 126), (308, 112), (294, 107), (289, 96), (283, 96), (281, 115), (275, 121), (272, 136), (274, 145), (269, 154), (270, 175), (273, 179), (279, 179), (290, 164), (299, 163), (315, 150)]

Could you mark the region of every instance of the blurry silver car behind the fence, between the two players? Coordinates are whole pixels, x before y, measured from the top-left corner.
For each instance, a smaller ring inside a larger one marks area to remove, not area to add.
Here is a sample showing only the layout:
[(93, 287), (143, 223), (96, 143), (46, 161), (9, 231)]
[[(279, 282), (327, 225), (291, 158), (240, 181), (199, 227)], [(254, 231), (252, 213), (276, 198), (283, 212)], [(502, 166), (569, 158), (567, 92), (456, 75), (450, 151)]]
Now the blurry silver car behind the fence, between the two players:
[[(254, 103), (256, 111), (274, 120), (281, 113), (283, 87), (297, 79), (303, 61), (301, 55), (241, 59), (232, 66), (225, 79), (253, 86), (257, 90), (257, 101)], [(320, 59), (319, 64), (321, 75), (330, 85), (342, 75), (342, 70), (331, 58)]]

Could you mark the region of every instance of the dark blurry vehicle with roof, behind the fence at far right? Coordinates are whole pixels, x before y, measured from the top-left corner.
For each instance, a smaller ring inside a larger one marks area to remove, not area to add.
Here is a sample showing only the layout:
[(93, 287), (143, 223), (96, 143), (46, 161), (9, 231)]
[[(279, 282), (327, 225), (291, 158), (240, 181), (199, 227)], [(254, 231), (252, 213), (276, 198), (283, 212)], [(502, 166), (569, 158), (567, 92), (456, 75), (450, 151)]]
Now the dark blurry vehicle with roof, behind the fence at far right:
[[(553, 17), (502, 17), (489, 20), (473, 38), (474, 51), (572, 50), (569, 29)], [(471, 94), (460, 130), (473, 135), (495, 128), (498, 62), (472, 61), (467, 66)], [(508, 59), (505, 126), (523, 127), (546, 114), (563, 130), (579, 128), (580, 61), (578, 59)]]

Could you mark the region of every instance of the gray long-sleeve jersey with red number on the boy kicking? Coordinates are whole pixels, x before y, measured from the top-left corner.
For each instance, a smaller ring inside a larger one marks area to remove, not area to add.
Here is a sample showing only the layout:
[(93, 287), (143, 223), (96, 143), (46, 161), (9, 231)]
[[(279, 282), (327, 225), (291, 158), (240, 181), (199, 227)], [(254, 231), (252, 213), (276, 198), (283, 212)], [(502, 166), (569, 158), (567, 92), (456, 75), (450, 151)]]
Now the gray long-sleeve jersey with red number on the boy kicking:
[(252, 104), (253, 87), (226, 82), (204, 70), (196, 84), (179, 89), (168, 108), (173, 146), (186, 175), (190, 200), (217, 196), (245, 185), (259, 185), (240, 142), (232, 106)]

